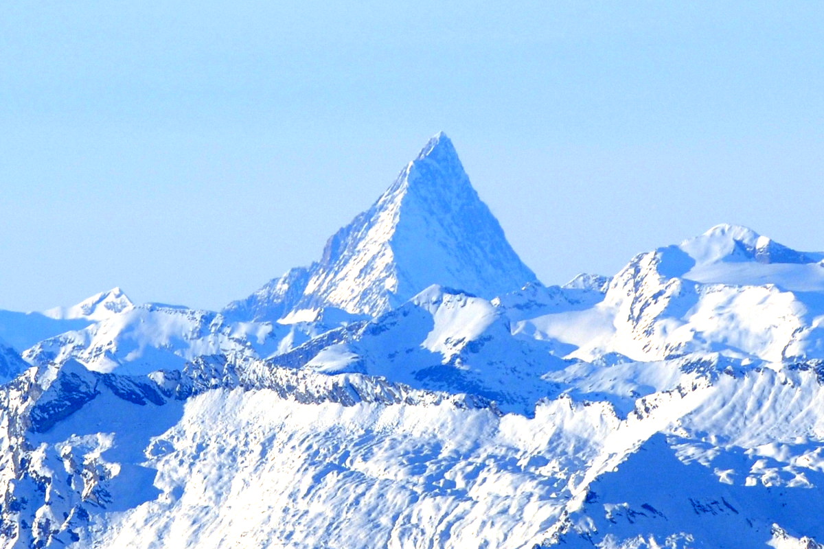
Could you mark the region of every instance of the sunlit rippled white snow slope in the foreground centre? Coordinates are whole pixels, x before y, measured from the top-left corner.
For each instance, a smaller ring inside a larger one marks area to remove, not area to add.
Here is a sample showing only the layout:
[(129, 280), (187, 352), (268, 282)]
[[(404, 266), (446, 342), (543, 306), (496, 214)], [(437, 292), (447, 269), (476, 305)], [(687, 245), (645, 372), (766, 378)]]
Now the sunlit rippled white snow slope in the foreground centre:
[(166, 547), (518, 547), (556, 518), (562, 472), (597, 452), (583, 432), (610, 426), (569, 402), (545, 413), (557, 423), (207, 393), (156, 443), (157, 485), (173, 497), (118, 519), (104, 547), (136, 532)]

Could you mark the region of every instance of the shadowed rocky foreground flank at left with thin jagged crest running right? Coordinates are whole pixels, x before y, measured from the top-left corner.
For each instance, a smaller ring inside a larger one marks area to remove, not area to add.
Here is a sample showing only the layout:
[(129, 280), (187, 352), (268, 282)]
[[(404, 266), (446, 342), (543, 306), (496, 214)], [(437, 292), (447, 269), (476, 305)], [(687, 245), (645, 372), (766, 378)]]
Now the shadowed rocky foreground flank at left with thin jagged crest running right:
[(358, 375), (237, 365), (225, 357), (148, 377), (101, 374), (75, 361), (30, 369), (0, 395), (0, 531), (7, 540), (0, 547), (62, 547), (95, 519), (157, 498), (157, 469), (143, 463), (152, 437), (180, 420), (187, 399), (233, 390), (265, 391), (307, 406), (442, 405), (499, 415), (494, 403), (472, 395), (427, 393)]

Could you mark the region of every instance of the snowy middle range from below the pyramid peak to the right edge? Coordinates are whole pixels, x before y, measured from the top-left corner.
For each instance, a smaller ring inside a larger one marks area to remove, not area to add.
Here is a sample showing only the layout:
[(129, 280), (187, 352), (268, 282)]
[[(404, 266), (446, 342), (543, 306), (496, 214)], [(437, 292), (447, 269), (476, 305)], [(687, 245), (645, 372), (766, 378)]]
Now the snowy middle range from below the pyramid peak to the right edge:
[[(530, 415), (539, 398), (558, 394), (550, 380), (564, 361), (824, 359), (824, 295), (683, 277), (696, 268), (723, 272), (745, 264), (780, 266), (779, 274), (793, 280), (790, 266), (820, 267), (814, 255), (719, 226), (681, 246), (639, 254), (612, 278), (531, 283), (494, 300), (432, 286), (377, 319), (323, 334), (272, 361), (482, 394)], [(786, 260), (796, 263), (779, 263)]]

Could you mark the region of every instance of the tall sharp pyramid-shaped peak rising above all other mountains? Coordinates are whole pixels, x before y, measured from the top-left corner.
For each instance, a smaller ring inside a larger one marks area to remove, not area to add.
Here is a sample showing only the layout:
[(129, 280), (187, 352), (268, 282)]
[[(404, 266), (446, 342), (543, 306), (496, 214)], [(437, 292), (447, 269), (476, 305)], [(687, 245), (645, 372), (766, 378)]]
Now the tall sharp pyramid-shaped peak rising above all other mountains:
[(288, 321), (316, 320), (325, 309), (375, 316), (433, 284), (491, 298), (534, 281), (452, 141), (438, 133), (371, 208), (327, 241), (319, 262), (269, 281), (224, 313)]

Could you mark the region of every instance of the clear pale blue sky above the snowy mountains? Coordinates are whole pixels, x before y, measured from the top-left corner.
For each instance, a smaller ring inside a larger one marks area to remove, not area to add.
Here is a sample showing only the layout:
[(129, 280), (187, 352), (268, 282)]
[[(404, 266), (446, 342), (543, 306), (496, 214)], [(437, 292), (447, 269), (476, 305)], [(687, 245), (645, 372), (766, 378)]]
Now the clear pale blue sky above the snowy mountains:
[(545, 283), (824, 249), (824, 3), (0, 3), (0, 308), (219, 308), (439, 130)]

